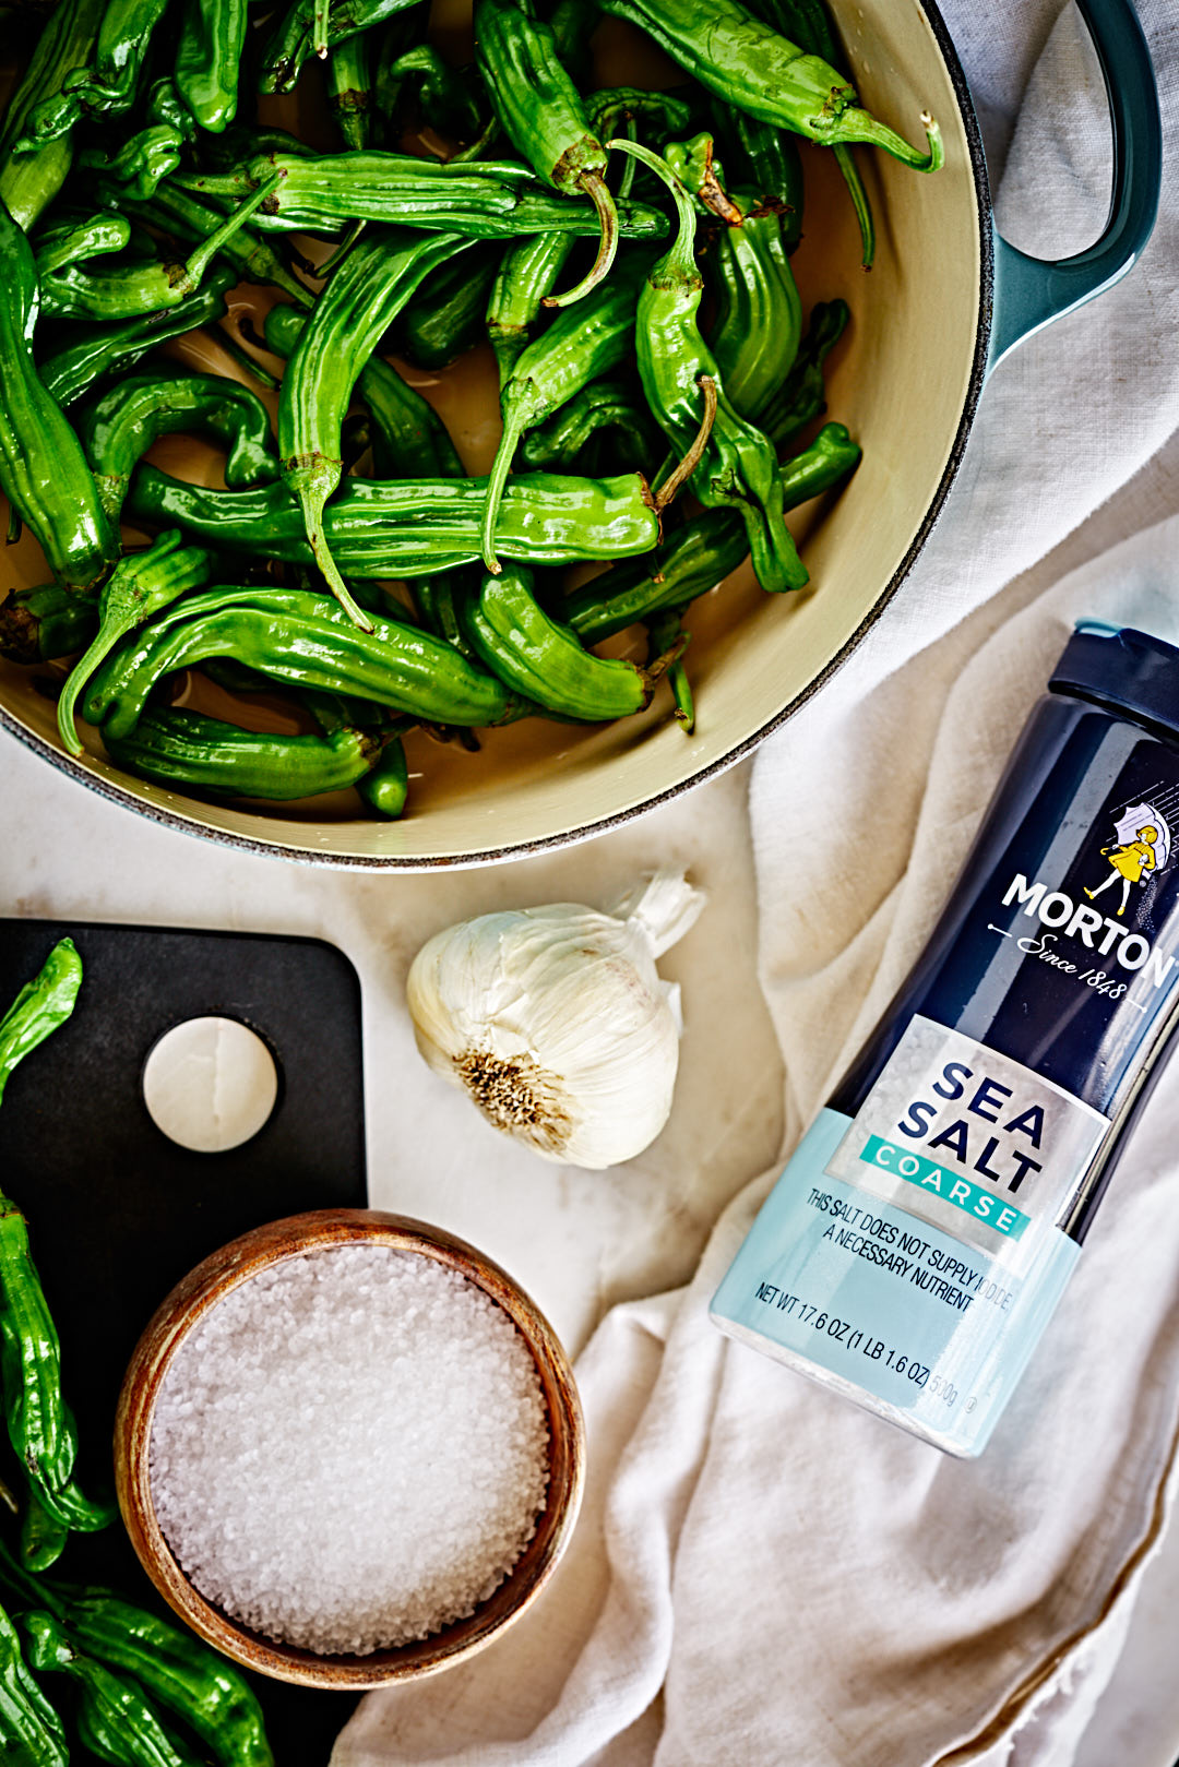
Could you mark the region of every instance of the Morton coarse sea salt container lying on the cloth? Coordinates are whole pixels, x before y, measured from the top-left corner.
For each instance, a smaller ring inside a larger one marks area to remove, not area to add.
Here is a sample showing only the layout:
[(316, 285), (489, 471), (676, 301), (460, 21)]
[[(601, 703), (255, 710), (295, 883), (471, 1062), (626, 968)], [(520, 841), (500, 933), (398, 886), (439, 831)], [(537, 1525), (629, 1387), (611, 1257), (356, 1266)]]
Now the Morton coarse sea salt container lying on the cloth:
[(1052, 1318), (1179, 1012), (1179, 650), (1084, 624), (930, 944), (712, 1302), (951, 1454)]

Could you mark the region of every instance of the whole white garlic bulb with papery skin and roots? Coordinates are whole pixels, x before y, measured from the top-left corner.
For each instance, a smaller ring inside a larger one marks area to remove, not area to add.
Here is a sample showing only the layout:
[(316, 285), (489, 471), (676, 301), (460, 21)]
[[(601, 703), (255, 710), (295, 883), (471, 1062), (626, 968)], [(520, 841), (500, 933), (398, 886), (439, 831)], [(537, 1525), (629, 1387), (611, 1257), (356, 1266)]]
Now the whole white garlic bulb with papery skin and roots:
[(656, 958), (704, 901), (659, 871), (613, 914), (562, 901), (460, 921), (414, 958), (417, 1048), (544, 1159), (633, 1159), (668, 1120), (679, 1064), (679, 986)]

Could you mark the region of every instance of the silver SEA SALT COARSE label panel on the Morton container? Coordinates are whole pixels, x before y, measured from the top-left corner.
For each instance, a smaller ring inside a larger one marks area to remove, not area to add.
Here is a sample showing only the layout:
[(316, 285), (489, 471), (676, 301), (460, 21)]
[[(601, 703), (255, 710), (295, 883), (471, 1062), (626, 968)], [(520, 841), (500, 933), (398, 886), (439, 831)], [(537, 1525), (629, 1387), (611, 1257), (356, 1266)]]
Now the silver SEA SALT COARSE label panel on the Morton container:
[(825, 1173), (1018, 1267), (1036, 1226), (1068, 1217), (1107, 1129), (1022, 1062), (917, 1016)]

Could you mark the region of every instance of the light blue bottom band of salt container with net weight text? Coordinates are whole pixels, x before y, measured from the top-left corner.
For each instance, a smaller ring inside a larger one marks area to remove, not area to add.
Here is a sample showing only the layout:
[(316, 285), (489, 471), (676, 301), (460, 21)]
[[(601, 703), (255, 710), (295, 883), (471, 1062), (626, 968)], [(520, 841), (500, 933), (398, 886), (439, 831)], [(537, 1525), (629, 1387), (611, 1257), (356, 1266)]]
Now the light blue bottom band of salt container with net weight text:
[(829, 1177), (847, 1126), (843, 1113), (820, 1111), (718, 1288), (712, 1318), (818, 1382), (857, 1389), (861, 1403), (940, 1447), (977, 1454), (1078, 1248), (1057, 1228), (1038, 1228), (1020, 1272), (1006, 1270), (1000, 1258)]

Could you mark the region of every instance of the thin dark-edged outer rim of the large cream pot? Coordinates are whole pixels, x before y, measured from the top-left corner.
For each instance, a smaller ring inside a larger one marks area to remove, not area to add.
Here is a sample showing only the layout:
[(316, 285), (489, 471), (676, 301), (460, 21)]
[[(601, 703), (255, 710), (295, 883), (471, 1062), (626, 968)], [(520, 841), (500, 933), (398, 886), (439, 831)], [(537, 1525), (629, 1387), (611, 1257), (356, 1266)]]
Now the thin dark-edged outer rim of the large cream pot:
[(958, 468), (962, 466), (962, 458), (965, 454), (967, 438), (974, 424), (974, 413), (977, 410), (977, 401), (983, 392), (983, 383), (986, 380), (986, 362), (990, 352), (990, 334), (993, 318), (993, 288), (995, 288), (995, 240), (993, 240), (993, 212), (992, 212), (992, 194), (990, 178), (986, 173), (986, 152), (983, 147), (983, 134), (979, 129), (977, 115), (974, 110), (974, 101), (970, 97), (970, 87), (963, 72), (962, 62), (958, 60), (958, 51), (955, 49), (953, 37), (946, 27), (946, 21), (937, 7), (937, 0), (914, 0), (914, 5), (926, 19), (933, 39), (937, 42), (942, 62), (946, 64), (946, 72), (955, 90), (958, 101), (958, 115), (967, 138), (967, 150), (970, 159), (970, 171), (974, 178), (974, 201), (977, 209), (979, 224), (979, 309), (976, 322), (976, 339), (974, 339), (974, 360), (970, 364), (970, 375), (967, 380), (965, 398), (962, 405), (962, 413), (958, 419), (958, 428), (955, 431), (955, 440), (949, 449), (949, 456), (942, 468), (942, 475), (933, 488), (930, 502), (926, 504), (924, 516), (914, 534), (905, 557), (896, 565), (893, 576), (884, 585), (877, 599), (873, 601), (868, 613), (863, 617), (856, 631), (843, 641), (843, 645), (834, 652), (834, 656), (820, 668), (813, 679), (794, 694), (772, 717), (769, 717), (758, 730), (742, 737), (732, 749), (719, 755), (714, 762), (707, 762), (696, 772), (689, 774), (686, 779), (679, 779), (675, 785), (666, 786), (663, 792), (654, 792), (650, 797), (643, 797), (635, 804), (628, 804), (622, 809), (612, 811), (608, 816), (597, 816), (592, 822), (578, 823), (573, 829), (562, 829), (553, 834), (536, 836), (529, 841), (514, 841), (507, 846), (488, 846), (470, 853), (332, 853), (322, 848), (306, 845), (292, 846), (281, 839), (262, 839), (253, 834), (239, 834), (232, 829), (214, 829), (194, 816), (187, 816), (182, 811), (168, 809), (163, 804), (150, 804), (136, 797), (133, 792), (126, 790), (113, 779), (104, 779), (95, 774), (90, 767), (85, 767), (72, 755), (48, 742), (37, 732), (28, 730), (7, 707), (0, 705), (0, 726), (19, 742), (30, 747), (42, 760), (48, 760), (60, 772), (71, 776), (78, 783), (97, 792), (99, 797), (108, 799), (111, 804), (118, 804), (124, 809), (131, 809), (148, 822), (161, 823), (166, 829), (173, 829), (179, 834), (189, 834), (193, 839), (217, 841), (221, 846), (230, 846), (246, 853), (258, 853), (265, 859), (286, 859), (295, 864), (306, 866), (323, 866), (336, 871), (361, 869), (361, 871), (403, 871), (403, 873), (422, 873), (422, 871), (470, 871), (479, 866), (504, 864), (513, 859), (529, 859), (537, 853), (559, 852), (566, 846), (578, 846), (582, 841), (592, 841), (599, 834), (606, 834), (612, 829), (620, 829), (624, 823), (633, 822), (636, 816), (645, 816), (649, 811), (659, 809), (663, 804), (670, 804), (673, 799), (682, 797), (684, 792), (691, 792), (709, 779), (719, 777), (719, 774), (728, 772), (739, 762), (746, 760), (767, 737), (771, 737), (787, 719), (794, 717), (825, 684), (831, 677), (843, 668), (847, 659), (854, 650), (864, 641), (871, 627), (882, 617), (884, 610), (889, 606), (901, 583), (912, 571), (924, 542), (939, 519), (949, 489), (958, 477)]

